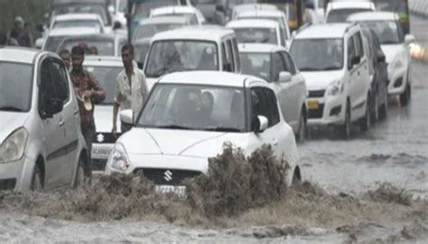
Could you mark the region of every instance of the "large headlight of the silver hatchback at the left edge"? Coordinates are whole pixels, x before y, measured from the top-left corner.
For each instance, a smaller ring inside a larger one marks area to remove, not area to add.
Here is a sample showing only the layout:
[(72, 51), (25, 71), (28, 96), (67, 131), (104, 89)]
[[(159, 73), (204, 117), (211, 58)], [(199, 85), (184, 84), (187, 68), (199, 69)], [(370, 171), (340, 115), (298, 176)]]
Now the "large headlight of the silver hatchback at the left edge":
[(13, 162), (23, 157), (28, 140), (28, 131), (24, 127), (15, 130), (0, 145), (0, 164)]

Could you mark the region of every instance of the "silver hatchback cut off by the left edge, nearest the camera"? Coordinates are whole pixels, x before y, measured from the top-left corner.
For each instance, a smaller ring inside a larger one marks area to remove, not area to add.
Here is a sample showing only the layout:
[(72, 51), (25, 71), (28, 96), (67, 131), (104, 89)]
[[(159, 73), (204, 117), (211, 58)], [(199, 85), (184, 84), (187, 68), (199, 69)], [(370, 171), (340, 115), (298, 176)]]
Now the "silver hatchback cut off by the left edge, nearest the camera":
[(90, 179), (70, 76), (51, 52), (0, 47), (0, 190)]

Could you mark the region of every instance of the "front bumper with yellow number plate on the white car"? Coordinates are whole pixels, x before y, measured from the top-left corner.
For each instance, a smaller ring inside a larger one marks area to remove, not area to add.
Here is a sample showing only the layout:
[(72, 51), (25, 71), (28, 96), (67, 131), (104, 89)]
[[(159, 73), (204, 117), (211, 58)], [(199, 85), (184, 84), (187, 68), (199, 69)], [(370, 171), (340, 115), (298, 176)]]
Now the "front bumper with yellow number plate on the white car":
[[(345, 100), (343, 96), (311, 98), (308, 104), (308, 126), (324, 127), (341, 125), (345, 122)], [(318, 102), (318, 108), (313, 108), (312, 103)]]

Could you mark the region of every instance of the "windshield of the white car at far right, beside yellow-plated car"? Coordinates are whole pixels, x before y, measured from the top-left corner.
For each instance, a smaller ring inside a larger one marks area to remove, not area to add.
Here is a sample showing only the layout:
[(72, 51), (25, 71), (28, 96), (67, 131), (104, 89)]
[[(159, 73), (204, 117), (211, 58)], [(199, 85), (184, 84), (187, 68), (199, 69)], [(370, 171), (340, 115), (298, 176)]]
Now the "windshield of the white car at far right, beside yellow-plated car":
[(366, 22), (368, 28), (372, 29), (381, 44), (400, 43), (398, 25), (394, 21), (370, 21)]

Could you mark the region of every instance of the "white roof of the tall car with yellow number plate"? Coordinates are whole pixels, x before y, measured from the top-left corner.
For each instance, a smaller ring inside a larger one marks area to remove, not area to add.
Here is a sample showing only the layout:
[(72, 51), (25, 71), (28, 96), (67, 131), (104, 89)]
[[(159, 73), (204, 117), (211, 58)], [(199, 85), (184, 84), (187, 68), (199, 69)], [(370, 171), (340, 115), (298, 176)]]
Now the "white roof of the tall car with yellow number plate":
[(295, 36), (294, 39), (342, 38), (352, 23), (321, 23), (313, 24)]

